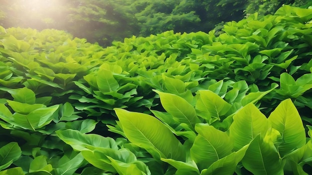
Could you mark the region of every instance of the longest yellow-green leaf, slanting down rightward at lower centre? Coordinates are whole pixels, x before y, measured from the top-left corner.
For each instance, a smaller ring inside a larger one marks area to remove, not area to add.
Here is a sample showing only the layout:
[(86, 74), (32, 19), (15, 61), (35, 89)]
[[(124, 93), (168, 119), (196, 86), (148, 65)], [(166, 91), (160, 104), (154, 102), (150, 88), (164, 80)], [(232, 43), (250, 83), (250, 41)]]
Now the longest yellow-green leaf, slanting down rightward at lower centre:
[(155, 117), (115, 108), (125, 135), (130, 142), (149, 151), (155, 159), (185, 160), (182, 144), (169, 128)]

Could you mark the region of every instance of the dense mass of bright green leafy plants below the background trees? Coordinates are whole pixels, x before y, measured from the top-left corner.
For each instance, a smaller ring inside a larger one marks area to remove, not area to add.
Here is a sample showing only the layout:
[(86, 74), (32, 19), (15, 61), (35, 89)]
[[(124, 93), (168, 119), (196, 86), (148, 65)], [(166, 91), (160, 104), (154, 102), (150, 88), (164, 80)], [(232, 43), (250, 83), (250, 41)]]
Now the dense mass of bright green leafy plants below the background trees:
[(308, 175), (311, 20), (284, 5), (107, 48), (0, 27), (0, 175)]

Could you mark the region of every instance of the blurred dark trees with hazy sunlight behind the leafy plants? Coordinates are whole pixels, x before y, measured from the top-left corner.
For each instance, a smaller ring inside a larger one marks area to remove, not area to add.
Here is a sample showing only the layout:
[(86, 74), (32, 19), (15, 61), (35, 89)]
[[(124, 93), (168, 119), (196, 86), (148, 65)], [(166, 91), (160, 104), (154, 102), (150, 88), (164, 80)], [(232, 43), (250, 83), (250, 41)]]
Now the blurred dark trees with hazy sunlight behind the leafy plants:
[(221, 21), (273, 14), (282, 4), (308, 0), (1, 0), (0, 25), (54, 28), (102, 46), (167, 30), (208, 32)]

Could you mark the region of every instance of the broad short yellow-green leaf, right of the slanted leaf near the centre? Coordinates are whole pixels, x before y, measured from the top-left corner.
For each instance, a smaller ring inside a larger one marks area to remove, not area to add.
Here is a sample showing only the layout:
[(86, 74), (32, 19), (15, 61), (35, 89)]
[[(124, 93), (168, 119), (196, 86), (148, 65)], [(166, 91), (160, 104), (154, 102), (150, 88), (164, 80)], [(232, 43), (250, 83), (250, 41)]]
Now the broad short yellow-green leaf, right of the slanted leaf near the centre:
[(232, 107), (231, 104), (210, 90), (198, 90), (198, 94), (197, 115), (204, 118), (208, 123), (212, 123), (216, 119), (220, 120), (220, 116), (225, 115)]

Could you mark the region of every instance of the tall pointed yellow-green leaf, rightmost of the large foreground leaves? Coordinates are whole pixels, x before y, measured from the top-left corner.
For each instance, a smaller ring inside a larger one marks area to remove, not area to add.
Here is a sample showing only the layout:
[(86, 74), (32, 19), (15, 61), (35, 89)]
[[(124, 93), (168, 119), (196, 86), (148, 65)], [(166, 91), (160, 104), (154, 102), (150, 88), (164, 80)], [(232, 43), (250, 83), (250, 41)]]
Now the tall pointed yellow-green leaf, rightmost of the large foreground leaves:
[(291, 99), (282, 101), (268, 118), (282, 136), (278, 140), (281, 157), (306, 144), (306, 132), (300, 115)]

